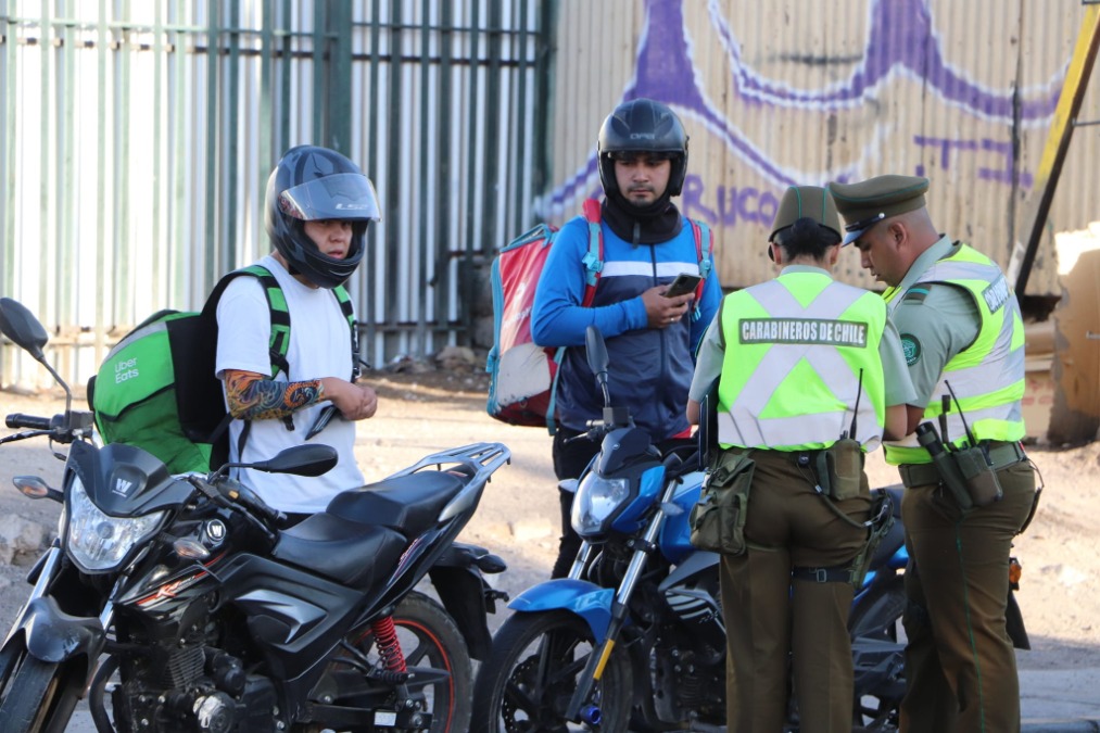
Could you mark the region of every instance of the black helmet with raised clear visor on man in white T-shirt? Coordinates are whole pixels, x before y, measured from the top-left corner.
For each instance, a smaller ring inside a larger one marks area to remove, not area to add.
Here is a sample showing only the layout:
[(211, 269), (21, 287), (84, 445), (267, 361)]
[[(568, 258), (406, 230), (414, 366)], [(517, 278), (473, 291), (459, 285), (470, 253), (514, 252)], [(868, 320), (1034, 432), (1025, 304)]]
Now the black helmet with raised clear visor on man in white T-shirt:
[[(352, 222), (351, 248), (343, 260), (322, 254), (304, 222), (339, 219)], [(316, 145), (288, 150), (267, 179), (264, 226), (292, 274), (318, 287), (333, 288), (355, 272), (363, 259), (363, 236), (380, 221), (371, 179), (340, 153)]]

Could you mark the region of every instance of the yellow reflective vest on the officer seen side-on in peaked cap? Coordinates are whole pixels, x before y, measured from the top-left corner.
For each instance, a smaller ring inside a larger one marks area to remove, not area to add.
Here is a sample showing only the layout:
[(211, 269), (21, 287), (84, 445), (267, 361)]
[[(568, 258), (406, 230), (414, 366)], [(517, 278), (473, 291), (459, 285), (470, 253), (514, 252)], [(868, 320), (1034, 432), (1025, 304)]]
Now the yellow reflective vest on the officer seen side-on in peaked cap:
[[(938, 426), (938, 417), (944, 413), (943, 397), (954, 391), (958, 403), (954, 398), (950, 401), (947, 411), (949, 440), (945, 442), (956, 447), (967, 445), (967, 427), (976, 441), (1020, 440), (1024, 437), (1020, 404), (1024, 395), (1024, 322), (1004, 273), (996, 262), (964, 244), (958, 252), (939, 260), (935, 267), (921, 275), (913, 287), (928, 283), (949, 283), (966, 288), (981, 314), (981, 327), (975, 342), (944, 366), (923, 419)], [(902, 302), (902, 295), (898, 288), (883, 293), (891, 313)], [(888, 463), (895, 466), (932, 462), (915, 435), (887, 442), (886, 458)]]

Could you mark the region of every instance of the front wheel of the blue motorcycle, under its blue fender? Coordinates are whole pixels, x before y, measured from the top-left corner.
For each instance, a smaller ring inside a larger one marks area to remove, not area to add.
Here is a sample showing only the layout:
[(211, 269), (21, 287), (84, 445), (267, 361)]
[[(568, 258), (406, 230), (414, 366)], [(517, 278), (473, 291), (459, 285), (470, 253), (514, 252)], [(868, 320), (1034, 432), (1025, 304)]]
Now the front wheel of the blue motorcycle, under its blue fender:
[(517, 613), (501, 626), (477, 674), (474, 733), (602, 731), (624, 733), (634, 699), (629, 655), (615, 649), (593, 692), (598, 724), (564, 719), (576, 678), (594, 650), (592, 630), (564, 611)]

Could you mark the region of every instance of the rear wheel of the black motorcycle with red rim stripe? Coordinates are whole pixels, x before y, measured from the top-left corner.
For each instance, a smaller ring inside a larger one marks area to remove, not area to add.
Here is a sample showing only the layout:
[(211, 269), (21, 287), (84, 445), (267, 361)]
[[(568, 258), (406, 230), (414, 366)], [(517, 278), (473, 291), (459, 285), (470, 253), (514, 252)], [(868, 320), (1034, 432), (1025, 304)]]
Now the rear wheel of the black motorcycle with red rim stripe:
[[(409, 667), (446, 669), (450, 677), (424, 689), (427, 712), (432, 714), (431, 733), (463, 733), (470, 727), (473, 661), (462, 632), (447, 611), (427, 595), (413, 592), (393, 613), (397, 639)], [(372, 664), (378, 665), (374, 633), (359, 633), (352, 639)]]

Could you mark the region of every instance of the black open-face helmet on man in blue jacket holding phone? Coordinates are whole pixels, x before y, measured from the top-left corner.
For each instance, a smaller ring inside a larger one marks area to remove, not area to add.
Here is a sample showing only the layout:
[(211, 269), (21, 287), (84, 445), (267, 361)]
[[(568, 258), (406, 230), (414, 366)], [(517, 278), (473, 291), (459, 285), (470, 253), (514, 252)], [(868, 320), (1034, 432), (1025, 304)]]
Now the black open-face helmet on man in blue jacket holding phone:
[(607, 196), (622, 197), (615, 179), (614, 154), (639, 152), (669, 156), (672, 172), (661, 201), (667, 204), (672, 196), (679, 196), (688, 175), (688, 133), (671, 109), (652, 99), (632, 99), (619, 105), (600, 128), (596, 154), (600, 183)]

